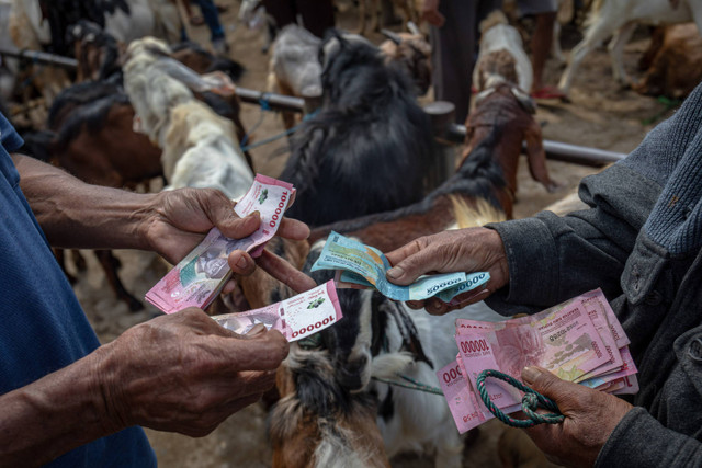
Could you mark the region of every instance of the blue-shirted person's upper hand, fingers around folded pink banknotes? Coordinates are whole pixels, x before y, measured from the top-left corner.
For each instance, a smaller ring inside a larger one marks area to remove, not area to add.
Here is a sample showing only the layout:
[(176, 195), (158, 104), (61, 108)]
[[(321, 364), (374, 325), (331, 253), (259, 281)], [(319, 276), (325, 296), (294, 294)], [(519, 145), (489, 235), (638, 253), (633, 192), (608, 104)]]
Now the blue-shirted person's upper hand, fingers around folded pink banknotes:
[[(222, 192), (211, 189), (181, 189), (161, 192), (156, 197), (151, 215), (147, 217), (146, 238), (152, 250), (176, 264), (190, 253), (213, 227), (231, 239), (241, 239), (253, 233), (261, 224), (257, 214), (239, 218), (234, 213), (235, 203)], [(294, 240), (304, 240), (309, 228), (295, 219), (283, 218), (276, 236)], [(263, 251), (253, 259), (246, 252), (235, 250), (229, 254), (229, 267), (235, 274), (249, 275), (258, 263), (276, 279), (284, 282), (301, 293), (316, 286), (315, 282), (297, 271), (290, 263)], [(224, 294), (234, 289), (229, 282)]]

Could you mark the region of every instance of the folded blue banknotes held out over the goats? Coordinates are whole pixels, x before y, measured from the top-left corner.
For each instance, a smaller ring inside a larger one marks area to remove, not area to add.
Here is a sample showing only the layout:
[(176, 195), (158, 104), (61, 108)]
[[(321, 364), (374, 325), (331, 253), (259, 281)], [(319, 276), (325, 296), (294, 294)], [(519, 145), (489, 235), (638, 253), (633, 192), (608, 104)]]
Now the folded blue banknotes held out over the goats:
[(444, 303), (475, 289), (490, 279), (487, 272), (445, 273), (422, 276), (409, 286), (388, 282), (385, 273), (392, 267), (380, 250), (331, 231), (312, 271), (336, 270), (339, 287), (375, 288), (395, 300), (423, 300), (437, 296)]

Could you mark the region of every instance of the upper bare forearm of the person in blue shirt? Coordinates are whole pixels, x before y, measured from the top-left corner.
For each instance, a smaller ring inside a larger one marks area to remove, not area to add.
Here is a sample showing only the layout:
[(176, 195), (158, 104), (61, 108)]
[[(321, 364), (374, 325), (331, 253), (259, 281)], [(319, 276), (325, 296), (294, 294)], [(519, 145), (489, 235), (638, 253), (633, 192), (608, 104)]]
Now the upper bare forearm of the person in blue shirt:
[(87, 184), (53, 165), (13, 156), (20, 186), (49, 243), (64, 248), (147, 249), (154, 194)]

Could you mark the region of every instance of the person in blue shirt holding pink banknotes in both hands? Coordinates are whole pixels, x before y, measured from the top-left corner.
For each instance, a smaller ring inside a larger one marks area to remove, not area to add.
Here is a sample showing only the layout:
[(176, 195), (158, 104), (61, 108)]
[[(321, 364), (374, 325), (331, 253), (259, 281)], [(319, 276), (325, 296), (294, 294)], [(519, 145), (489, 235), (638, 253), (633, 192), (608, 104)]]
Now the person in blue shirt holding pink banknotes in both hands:
[[(237, 217), (215, 190), (137, 194), (11, 157), (22, 139), (1, 114), (0, 142), (0, 466), (155, 467), (140, 425), (202, 436), (273, 386), (283, 335), (263, 326), (237, 335), (196, 308), (101, 345), (50, 250), (143, 249), (177, 263), (213, 227), (250, 236), (258, 214)], [(278, 233), (305, 239), (309, 228), (284, 219)], [(315, 286), (265, 251), (254, 261), (237, 250), (228, 263)]]

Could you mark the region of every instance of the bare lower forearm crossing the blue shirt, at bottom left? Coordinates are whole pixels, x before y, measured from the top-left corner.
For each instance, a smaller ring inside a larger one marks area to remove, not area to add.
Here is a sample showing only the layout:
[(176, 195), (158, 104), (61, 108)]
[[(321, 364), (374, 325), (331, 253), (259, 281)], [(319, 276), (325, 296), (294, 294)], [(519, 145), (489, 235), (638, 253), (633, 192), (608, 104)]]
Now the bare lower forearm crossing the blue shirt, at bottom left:
[(0, 396), (0, 466), (38, 466), (116, 432), (106, 416), (95, 353)]

